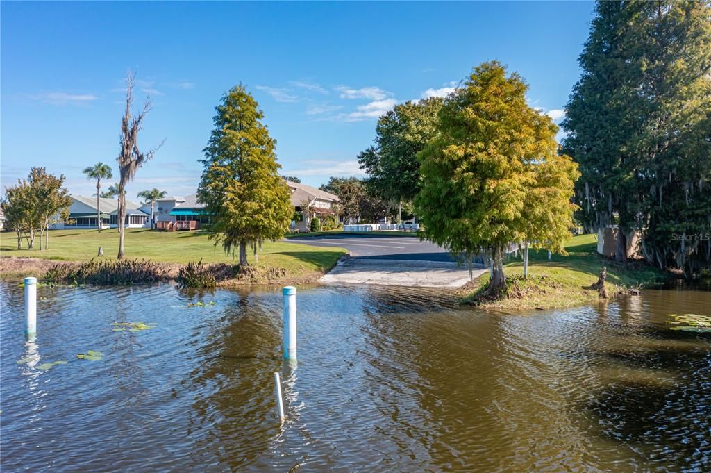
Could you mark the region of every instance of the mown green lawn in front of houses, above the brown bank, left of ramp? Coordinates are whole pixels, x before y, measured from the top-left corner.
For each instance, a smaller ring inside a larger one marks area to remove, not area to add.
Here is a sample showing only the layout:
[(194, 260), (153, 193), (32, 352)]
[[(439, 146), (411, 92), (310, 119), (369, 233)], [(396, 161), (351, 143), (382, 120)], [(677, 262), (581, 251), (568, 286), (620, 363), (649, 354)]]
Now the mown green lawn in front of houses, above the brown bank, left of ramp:
[[(17, 250), (14, 233), (0, 233), (2, 256), (39, 257), (52, 260), (90, 260), (100, 246), (108, 258), (116, 257), (119, 249), (117, 230), (52, 230), (49, 250)], [(35, 240), (39, 246), (39, 236)], [(23, 242), (23, 247), (26, 243)], [(128, 229), (125, 240), (126, 257), (144, 258), (158, 262), (186, 264), (189, 261), (236, 262), (225, 255), (222, 246), (215, 246), (204, 232), (159, 232), (144, 228)], [(336, 264), (346, 253), (343, 248), (317, 248), (295, 243), (267, 242), (259, 253), (260, 266), (283, 267), (290, 275), (322, 272)], [(249, 251), (252, 262), (252, 252)]]

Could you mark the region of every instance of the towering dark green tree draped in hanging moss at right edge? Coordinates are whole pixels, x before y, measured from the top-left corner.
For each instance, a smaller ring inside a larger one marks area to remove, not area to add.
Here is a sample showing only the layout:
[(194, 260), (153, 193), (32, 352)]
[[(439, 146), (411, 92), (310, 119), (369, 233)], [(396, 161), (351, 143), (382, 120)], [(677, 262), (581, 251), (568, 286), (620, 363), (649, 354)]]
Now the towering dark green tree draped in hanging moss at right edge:
[[(711, 3), (599, 2), (567, 104), (580, 218), (661, 268), (711, 267)], [(689, 238), (693, 235), (692, 238)]]

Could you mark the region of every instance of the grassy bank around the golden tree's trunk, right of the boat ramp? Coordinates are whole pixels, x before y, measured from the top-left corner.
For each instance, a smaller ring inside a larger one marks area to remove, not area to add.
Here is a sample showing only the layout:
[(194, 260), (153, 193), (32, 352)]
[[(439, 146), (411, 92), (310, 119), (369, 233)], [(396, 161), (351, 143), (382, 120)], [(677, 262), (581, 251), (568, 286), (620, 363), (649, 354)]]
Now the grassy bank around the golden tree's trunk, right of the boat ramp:
[(601, 300), (597, 290), (585, 287), (597, 281), (602, 267), (607, 268), (609, 298), (626, 294), (631, 288), (658, 285), (667, 279), (664, 272), (639, 262), (631, 262), (626, 267), (614, 265), (597, 254), (595, 235), (570, 238), (566, 250), (568, 255), (552, 255), (550, 261), (547, 251), (530, 251), (527, 280), (523, 280), (522, 258), (510, 258), (504, 266), (508, 282), (506, 292), (498, 299), (483, 297), (488, 275), (461, 287), (457, 294), (462, 302), (482, 309), (562, 309)]

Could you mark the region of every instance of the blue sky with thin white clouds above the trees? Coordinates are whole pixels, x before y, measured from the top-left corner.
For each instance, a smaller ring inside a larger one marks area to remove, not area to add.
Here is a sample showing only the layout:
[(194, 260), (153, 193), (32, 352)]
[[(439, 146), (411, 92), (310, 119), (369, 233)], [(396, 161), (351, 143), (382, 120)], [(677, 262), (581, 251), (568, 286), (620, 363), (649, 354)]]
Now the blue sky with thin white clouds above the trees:
[[(214, 107), (242, 83), (277, 139), (283, 174), (313, 186), (360, 176), (378, 115), (447, 92), (498, 59), (557, 121), (579, 77), (589, 2), (20, 3), (1, 9), (1, 185), (31, 166), (94, 185), (97, 161), (117, 175), (127, 68), (137, 104), (154, 108), (142, 149), (165, 139), (129, 197), (157, 187), (194, 193)], [(114, 181), (117, 179), (114, 179)]]

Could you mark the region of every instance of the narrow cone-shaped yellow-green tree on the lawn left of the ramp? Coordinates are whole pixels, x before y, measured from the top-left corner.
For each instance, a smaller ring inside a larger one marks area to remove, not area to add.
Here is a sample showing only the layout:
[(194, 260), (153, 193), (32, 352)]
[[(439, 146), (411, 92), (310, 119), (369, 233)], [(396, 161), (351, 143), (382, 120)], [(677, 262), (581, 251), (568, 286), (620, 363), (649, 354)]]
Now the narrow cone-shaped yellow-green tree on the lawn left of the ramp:
[(237, 248), (240, 265), (247, 265), (247, 245), (256, 262), (262, 241), (284, 236), (294, 214), (291, 193), (279, 176), (276, 141), (245, 87), (232, 87), (215, 110), (198, 198), (210, 213), (210, 238), (225, 253)]

